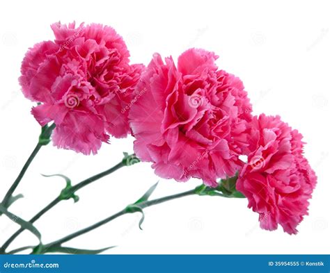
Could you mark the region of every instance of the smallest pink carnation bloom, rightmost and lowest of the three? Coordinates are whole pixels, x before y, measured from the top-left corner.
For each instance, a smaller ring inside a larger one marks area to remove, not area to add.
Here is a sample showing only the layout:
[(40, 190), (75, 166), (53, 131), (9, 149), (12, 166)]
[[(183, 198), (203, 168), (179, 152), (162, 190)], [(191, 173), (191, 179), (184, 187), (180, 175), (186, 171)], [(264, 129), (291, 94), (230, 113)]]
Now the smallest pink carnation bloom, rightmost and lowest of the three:
[(285, 232), (297, 233), (317, 179), (303, 156), (302, 135), (278, 116), (253, 117), (250, 126), (248, 163), (237, 190), (259, 213), (262, 229), (272, 231), (281, 224)]

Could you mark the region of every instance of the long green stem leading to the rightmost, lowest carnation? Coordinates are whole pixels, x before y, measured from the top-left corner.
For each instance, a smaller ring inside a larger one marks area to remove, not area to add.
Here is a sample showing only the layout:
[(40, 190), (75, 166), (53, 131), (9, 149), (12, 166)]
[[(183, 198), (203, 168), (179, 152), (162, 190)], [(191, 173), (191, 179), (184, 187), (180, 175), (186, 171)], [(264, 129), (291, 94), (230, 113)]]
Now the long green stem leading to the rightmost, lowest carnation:
[[(161, 204), (163, 202), (169, 201), (169, 200), (173, 200), (173, 199), (178, 199), (180, 197), (185, 197), (185, 196), (189, 196), (189, 195), (195, 195), (196, 194), (196, 190), (188, 190), (187, 192), (181, 192), (177, 195), (168, 195), (166, 197), (162, 197), (159, 199), (153, 199), (150, 201), (143, 201), (141, 203), (139, 203), (139, 207), (140, 208), (147, 208), (148, 206), (154, 206), (157, 204)], [(115, 213), (113, 215), (111, 215), (110, 217), (105, 218), (104, 220), (101, 220), (100, 222), (97, 222), (95, 224), (92, 224), (91, 226), (86, 227), (85, 229), (81, 229), (77, 232), (71, 233), (70, 235), (67, 235), (59, 240), (56, 240), (54, 242), (50, 242), (47, 245), (43, 246), (44, 251), (47, 251), (47, 249), (49, 249), (50, 247), (54, 247), (54, 246), (59, 246), (61, 244), (63, 244), (64, 242), (68, 242), (69, 240), (72, 240), (73, 238), (76, 238), (80, 235), (83, 235), (84, 233), (88, 233), (89, 231), (92, 231), (93, 229), (97, 229), (98, 227), (107, 224), (109, 222), (111, 222), (112, 220), (115, 220), (116, 218), (125, 215), (127, 213), (132, 213), (129, 212), (128, 210), (124, 209), (124, 210), (120, 210), (118, 213)]]

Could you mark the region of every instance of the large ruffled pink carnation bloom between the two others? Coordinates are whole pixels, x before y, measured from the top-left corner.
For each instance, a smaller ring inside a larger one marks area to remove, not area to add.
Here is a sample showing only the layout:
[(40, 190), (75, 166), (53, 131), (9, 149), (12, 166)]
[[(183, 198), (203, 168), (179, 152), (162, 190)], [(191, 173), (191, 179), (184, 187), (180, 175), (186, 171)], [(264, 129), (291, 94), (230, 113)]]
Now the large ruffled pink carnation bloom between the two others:
[(164, 63), (155, 53), (141, 75), (141, 96), (129, 112), (134, 151), (165, 179), (196, 177), (215, 186), (243, 165), (238, 156), (251, 104), (242, 81), (218, 70), (217, 58), (189, 49), (177, 68), (172, 58)]

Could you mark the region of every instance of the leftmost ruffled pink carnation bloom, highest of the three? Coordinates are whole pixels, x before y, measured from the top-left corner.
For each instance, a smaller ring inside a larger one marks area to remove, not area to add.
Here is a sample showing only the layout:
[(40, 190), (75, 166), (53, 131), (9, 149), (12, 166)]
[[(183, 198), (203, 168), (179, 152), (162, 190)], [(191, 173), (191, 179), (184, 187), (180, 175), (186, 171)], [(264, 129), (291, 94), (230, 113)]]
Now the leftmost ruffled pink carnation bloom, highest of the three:
[(32, 114), (44, 126), (54, 121), (54, 144), (97, 153), (109, 134), (129, 133), (123, 109), (134, 98), (143, 65), (129, 65), (129, 51), (109, 26), (52, 24), (55, 40), (26, 53), (19, 83), (25, 97), (41, 104)]

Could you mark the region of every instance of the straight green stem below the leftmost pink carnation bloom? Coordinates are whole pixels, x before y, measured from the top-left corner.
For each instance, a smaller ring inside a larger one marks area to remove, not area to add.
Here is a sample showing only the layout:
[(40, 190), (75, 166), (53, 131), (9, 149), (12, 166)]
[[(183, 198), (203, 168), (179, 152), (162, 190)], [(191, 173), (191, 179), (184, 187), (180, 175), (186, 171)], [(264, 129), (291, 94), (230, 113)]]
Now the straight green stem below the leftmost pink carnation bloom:
[[(45, 131), (42, 132), (43, 135), (47, 135), (48, 137), (50, 137), (53, 129), (55, 128), (55, 124), (52, 124), (51, 126), (47, 126), (47, 128), (45, 128)], [(8, 201), (10, 199), (10, 197), (13, 196), (13, 193), (15, 192), (17, 186), (19, 185), (19, 182), (22, 180), (26, 170), (29, 168), (29, 165), (31, 164), (31, 162), (33, 161), (33, 159), (36, 157), (36, 155), (38, 154), (38, 151), (40, 151), (41, 147), (44, 146), (45, 143), (44, 142), (45, 139), (41, 139), (39, 138), (38, 144), (36, 145), (36, 148), (33, 149), (31, 155), (29, 156), (29, 158), (26, 160), (26, 163), (24, 164), (24, 166), (21, 169), (21, 172), (19, 172), (17, 178), (15, 179), (13, 185), (10, 186), (8, 192), (6, 193), (5, 197), (3, 198), (1, 204), (5, 207), (8, 208)]]

